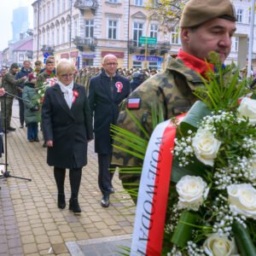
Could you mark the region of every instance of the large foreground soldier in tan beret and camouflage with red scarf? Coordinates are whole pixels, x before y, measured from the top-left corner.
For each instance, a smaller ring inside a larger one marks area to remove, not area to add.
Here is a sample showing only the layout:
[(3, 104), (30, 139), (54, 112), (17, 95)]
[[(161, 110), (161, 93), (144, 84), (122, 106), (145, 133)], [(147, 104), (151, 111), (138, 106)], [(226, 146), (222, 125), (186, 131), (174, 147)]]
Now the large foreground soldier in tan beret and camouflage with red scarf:
[[(125, 108), (141, 121), (149, 134), (153, 130), (151, 103), (160, 105), (165, 119), (187, 112), (196, 101), (193, 91), (204, 86), (199, 73), (205, 76), (209, 68), (205, 61), (209, 52), (216, 51), (223, 62), (230, 54), (231, 37), (236, 31), (236, 13), (230, 0), (190, 0), (183, 9), (180, 26), (182, 49), (176, 58), (170, 57), (164, 72), (146, 80), (122, 103), (118, 119), (121, 128), (140, 135)], [(117, 148), (113, 148), (111, 164), (143, 165)], [(119, 173), (119, 177), (125, 189), (132, 188), (126, 183), (137, 183), (140, 179), (140, 175), (135, 174)]]

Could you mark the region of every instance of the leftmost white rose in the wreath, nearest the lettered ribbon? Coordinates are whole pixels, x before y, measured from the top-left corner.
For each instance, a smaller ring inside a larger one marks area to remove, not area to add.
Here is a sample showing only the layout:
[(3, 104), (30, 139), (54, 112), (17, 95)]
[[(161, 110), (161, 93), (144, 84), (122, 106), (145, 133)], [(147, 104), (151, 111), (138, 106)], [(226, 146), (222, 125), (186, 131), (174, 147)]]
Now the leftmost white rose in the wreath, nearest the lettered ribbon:
[(178, 207), (198, 210), (207, 198), (209, 189), (201, 177), (183, 176), (176, 184)]

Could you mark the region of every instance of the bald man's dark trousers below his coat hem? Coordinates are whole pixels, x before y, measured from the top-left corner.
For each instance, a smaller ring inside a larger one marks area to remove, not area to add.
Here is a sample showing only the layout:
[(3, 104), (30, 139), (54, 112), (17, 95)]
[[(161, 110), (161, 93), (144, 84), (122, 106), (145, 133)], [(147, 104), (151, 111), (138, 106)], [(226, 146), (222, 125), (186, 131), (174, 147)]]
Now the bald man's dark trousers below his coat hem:
[(102, 195), (109, 195), (109, 191), (112, 188), (113, 173), (109, 171), (111, 157), (111, 154), (98, 154), (98, 184)]

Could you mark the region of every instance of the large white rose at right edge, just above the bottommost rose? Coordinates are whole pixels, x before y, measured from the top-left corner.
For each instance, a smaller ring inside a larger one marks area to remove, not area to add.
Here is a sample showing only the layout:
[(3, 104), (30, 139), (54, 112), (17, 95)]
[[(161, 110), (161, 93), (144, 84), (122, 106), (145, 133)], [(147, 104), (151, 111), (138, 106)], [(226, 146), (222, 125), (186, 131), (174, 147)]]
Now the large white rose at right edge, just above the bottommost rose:
[(256, 189), (252, 184), (242, 183), (227, 187), (230, 211), (256, 219)]

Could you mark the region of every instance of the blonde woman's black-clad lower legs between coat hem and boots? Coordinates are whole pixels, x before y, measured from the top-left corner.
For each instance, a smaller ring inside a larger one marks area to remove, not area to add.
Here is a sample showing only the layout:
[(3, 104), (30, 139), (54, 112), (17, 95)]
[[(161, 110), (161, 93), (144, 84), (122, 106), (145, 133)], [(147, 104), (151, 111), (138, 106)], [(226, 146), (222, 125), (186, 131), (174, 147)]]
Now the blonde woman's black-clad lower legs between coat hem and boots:
[[(64, 182), (66, 177), (66, 169), (54, 167), (54, 174), (55, 174), (55, 182), (57, 185), (58, 193), (64, 194)], [(69, 170), (71, 198), (79, 197), (81, 177), (82, 177), (82, 168), (74, 168)]]

